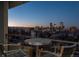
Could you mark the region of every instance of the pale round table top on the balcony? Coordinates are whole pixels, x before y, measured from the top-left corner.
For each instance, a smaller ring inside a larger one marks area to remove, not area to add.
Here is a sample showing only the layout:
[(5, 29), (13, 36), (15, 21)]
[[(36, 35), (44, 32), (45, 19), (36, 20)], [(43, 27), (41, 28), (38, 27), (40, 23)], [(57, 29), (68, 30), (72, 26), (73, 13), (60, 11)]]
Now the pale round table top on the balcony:
[(25, 40), (25, 43), (28, 43), (29, 45), (40, 46), (50, 44), (51, 40), (46, 38), (32, 38)]

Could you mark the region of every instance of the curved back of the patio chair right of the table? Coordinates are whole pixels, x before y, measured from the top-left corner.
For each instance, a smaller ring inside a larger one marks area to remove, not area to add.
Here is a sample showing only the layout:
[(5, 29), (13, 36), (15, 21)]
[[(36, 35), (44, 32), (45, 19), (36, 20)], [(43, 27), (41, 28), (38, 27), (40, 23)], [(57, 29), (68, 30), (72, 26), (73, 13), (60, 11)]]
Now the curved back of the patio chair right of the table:
[(71, 46), (61, 46), (60, 55), (62, 57), (70, 57), (73, 55), (75, 51), (76, 44), (73, 44)]

